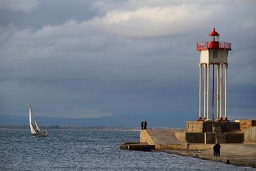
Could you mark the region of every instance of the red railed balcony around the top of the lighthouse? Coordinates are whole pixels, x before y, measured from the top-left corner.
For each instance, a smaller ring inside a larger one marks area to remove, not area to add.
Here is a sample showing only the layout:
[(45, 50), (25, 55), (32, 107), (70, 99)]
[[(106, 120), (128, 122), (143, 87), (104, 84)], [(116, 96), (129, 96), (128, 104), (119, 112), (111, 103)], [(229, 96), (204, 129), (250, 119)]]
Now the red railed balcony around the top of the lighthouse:
[[(231, 50), (231, 43), (215, 41), (199, 42), (196, 43), (196, 50), (207, 50), (207, 49), (225, 49)], [(217, 44), (218, 43), (218, 44)]]

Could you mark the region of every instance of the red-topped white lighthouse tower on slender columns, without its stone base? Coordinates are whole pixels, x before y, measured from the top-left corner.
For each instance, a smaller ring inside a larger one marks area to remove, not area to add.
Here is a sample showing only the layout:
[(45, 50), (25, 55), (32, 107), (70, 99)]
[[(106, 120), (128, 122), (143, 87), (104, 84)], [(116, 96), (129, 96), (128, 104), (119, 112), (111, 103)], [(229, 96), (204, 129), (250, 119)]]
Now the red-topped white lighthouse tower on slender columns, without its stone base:
[[(227, 84), (228, 84), (228, 51), (231, 50), (231, 43), (220, 42), (220, 34), (213, 28), (209, 33), (209, 41), (196, 43), (196, 50), (200, 52), (199, 60), (199, 118), (197, 121), (214, 120), (214, 96), (216, 97), (216, 121), (228, 121), (227, 114)], [(204, 66), (204, 67), (203, 67)], [(212, 66), (212, 67), (211, 67)], [(214, 66), (217, 66), (216, 84), (214, 84)], [(212, 68), (212, 70), (211, 70)], [(225, 78), (223, 79), (223, 68)], [(204, 82), (202, 82), (202, 70), (204, 70)], [(210, 72), (212, 71), (212, 119), (210, 112)], [(223, 81), (224, 80), (224, 81)], [(204, 87), (202, 84), (204, 83)], [(223, 87), (224, 85), (224, 87)], [(216, 87), (216, 93), (214, 93)], [(204, 98), (202, 99), (202, 88)], [(225, 97), (223, 97), (225, 90)], [(223, 111), (224, 98), (224, 111)], [(202, 101), (203, 100), (203, 101)], [(204, 117), (202, 116), (204, 114)], [(225, 114), (225, 119), (223, 116)]]

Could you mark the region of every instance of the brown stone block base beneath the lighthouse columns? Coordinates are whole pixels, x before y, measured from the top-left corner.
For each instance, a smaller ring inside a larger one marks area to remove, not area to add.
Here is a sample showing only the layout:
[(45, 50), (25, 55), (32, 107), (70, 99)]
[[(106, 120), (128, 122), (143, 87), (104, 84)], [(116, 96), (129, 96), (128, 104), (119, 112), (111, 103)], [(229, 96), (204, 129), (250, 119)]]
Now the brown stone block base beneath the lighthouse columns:
[(242, 143), (243, 132), (236, 122), (188, 121), (185, 137), (191, 143)]

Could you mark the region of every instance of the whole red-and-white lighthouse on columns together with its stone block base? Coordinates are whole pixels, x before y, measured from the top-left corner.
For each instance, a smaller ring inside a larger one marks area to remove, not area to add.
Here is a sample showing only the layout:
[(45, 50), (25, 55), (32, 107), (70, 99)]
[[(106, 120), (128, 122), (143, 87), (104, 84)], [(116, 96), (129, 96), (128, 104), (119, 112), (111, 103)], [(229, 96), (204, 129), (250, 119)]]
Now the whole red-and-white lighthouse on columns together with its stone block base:
[(196, 43), (196, 50), (200, 52), (199, 118), (187, 121), (186, 133), (180, 133), (180, 136), (189, 143), (241, 143), (241, 123), (228, 121), (227, 113), (228, 52), (231, 50), (231, 43), (220, 42), (220, 34), (213, 28), (209, 33), (209, 41)]

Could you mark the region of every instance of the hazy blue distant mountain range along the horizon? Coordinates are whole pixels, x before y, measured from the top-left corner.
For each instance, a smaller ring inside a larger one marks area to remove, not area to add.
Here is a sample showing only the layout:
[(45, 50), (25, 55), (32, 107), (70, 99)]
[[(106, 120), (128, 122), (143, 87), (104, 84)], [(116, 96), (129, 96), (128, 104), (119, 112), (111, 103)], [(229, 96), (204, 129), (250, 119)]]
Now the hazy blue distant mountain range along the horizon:
[[(111, 128), (140, 128), (141, 121), (148, 123), (148, 127), (185, 128), (184, 119), (173, 119), (171, 117), (136, 117), (129, 115), (104, 116), (100, 118), (65, 118), (65, 117), (42, 117), (36, 116), (40, 126), (72, 126), (72, 127), (111, 127)], [(29, 125), (28, 116), (0, 115), (1, 126), (26, 126)]]

